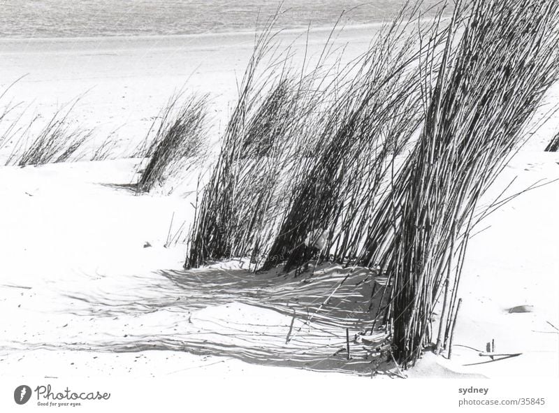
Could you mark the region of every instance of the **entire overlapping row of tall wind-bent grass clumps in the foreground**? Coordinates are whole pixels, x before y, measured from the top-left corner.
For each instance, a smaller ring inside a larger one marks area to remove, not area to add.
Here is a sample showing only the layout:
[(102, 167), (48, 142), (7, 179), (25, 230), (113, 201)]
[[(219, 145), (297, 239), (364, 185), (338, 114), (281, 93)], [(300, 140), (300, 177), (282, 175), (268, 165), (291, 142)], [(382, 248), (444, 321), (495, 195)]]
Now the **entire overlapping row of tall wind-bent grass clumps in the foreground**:
[(186, 263), (377, 268), (389, 288), (373, 328), (405, 368), (448, 347), (479, 198), (559, 74), (555, 1), (458, 0), (429, 22), (418, 4), (358, 59), (309, 75), (287, 59), (259, 72), (271, 24), (256, 38)]

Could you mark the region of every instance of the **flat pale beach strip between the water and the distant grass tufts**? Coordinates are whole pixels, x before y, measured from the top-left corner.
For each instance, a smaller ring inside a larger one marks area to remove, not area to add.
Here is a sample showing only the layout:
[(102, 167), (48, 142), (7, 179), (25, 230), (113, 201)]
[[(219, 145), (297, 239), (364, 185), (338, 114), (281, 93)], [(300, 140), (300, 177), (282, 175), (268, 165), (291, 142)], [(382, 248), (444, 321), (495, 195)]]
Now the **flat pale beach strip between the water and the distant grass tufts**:
[[(363, 52), (378, 24), (338, 31), (333, 47), (347, 45), (344, 61)], [(331, 28), (287, 30), (281, 48), (293, 49), (294, 66), (305, 48), (319, 56)], [(223, 126), (252, 54), (254, 33), (106, 38), (31, 38), (0, 40), (1, 87), (18, 80), (4, 101), (29, 106), (49, 117), (75, 99), (70, 119), (94, 129), (103, 140), (111, 133), (123, 147), (145, 137), (154, 117), (173, 94), (210, 94), (214, 124)], [(12, 115), (15, 117), (17, 111)], [(8, 117), (9, 119), (10, 117)]]

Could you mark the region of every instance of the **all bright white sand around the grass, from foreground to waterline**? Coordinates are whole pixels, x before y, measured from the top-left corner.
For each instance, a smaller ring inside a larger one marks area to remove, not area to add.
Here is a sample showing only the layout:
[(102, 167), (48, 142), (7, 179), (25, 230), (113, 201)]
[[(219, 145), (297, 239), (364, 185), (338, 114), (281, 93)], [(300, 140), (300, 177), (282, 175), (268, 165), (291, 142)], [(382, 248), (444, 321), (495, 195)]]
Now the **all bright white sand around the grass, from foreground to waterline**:
[[(349, 60), (366, 48), (375, 29), (349, 27), (335, 44), (349, 42)], [(309, 55), (320, 52), (327, 35), (328, 30), (311, 34)], [(287, 31), (281, 38), (298, 50), (293, 61), (300, 63), (307, 44), (304, 32)], [(97, 140), (115, 131), (124, 153), (145, 136), (169, 96), (186, 85), (211, 94), (217, 136), (252, 41), (252, 34), (1, 40), (0, 89), (25, 75), (3, 101), (24, 102), (45, 118), (83, 94), (73, 111), (74, 122), (94, 128)], [(559, 177), (559, 155), (543, 152), (551, 133), (548, 126), (530, 140), (485, 202), (514, 177), (508, 194)], [(161, 270), (182, 268), (195, 180), (187, 180), (171, 196), (135, 196), (122, 184), (133, 182), (138, 163), (116, 159), (0, 167), (0, 312), (10, 314), (0, 319), (3, 375), (242, 374), (333, 377), (344, 383), (366, 372), (342, 358), (315, 368), (259, 363), (223, 347), (204, 352), (203, 345), (198, 351), (185, 345), (187, 351), (180, 351), (177, 340), (207, 336), (209, 342), (240, 347), (245, 335), (253, 340), (251, 349), (258, 347), (255, 337), (265, 336), (270, 346), (286, 351), (282, 342), (291, 317), (247, 307), (234, 291), (228, 302), (220, 296), (220, 303), (182, 305), (204, 291), (181, 289)], [(482, 222), (480, 229), (489, 228), (470, 242), (458, 294), (463, 306), (453, 357), (449, 361), (428, 355), (407, 372), (409, 377), (559, 377), (558, 210), (559, 182), (554, 182), (507, 203)], [(179, 235), (177, 242), (166, 245), (169, 233)], [(210, 271), (242, 270), (235, 266), (238, 263)], [(115, 304), (118, 314), (110, 311)], [(518, 305), (533, 306), (532, 312), (509, 313)], [(235, 334), (238, 337), (228, 341)], [(489, 361), (479, 353), (491, 340), (498, 352), (521, 355), (476, 364)], [(145, 345), (134, 349), (138, 342)], [(166, 342), (167, 347), (150, 349), (150, 342)], [(126, 352), (112, 352), (111, 343), (127, 345), (121, 347)], [(337, 349), (335, 340), (322, 344)], [(103, 345), (108, 346), (105, 351)], [(395, 370), (388, 370), (377, 377), (393, 376)]]

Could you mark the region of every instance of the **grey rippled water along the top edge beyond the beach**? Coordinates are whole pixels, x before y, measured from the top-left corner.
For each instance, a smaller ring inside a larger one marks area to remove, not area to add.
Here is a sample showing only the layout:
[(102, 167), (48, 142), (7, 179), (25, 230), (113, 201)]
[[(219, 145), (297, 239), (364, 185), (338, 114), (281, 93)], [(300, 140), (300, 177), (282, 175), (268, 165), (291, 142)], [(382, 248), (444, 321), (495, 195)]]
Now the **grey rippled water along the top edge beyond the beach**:
[[(405, 0), (285, 0), (277, 27), (367, 24), (389, 19)], [(427, 10), (437, 0), (424, 1)], [(0, 0), (0, 38), (152, 36), (253, 30), (277, 0)], [(428, 11), (427, 14), (433, 14)]]

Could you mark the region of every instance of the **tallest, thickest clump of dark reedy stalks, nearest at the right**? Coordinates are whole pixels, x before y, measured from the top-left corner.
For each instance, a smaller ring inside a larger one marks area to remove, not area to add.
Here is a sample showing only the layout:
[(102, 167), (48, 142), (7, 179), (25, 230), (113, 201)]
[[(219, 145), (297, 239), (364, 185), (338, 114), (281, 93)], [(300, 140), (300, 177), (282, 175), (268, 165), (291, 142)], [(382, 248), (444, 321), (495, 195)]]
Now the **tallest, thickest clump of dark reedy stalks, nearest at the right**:
[(405, 367), (433, 340), (439, 352), (447, 345), (477, 202), (528, 138), (526, 126), (559, 74), (556, 1), (456, 6), (458, 43), (449, 37), (437, 82), (424, 92), (421, 136), (365, 257), (391, 277), (386, 321)]

